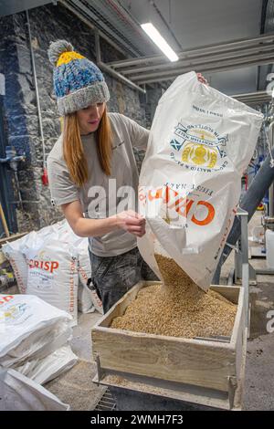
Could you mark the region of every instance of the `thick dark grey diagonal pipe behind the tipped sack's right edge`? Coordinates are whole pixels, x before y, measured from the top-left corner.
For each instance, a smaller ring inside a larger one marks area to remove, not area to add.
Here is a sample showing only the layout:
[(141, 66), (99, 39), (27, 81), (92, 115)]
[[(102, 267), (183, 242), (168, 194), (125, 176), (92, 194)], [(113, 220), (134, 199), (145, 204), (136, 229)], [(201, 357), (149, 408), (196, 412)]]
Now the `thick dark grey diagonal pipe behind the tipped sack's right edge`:
[[(271, 150), (272, 156), (274, 156), (274, 148)], [(264, 195), (266, 194), (269, 186), (274, 181), (274, 168), (270, 166), (270, 154), (266, 160), (262, 163), (258, 173), (251, 182), (248, 192), (243, 196), (240, 206), (243, 210), (248, 212), (248, 222), (256, 212), (258, 204), (260, 204)], [(231, 246), (235, 246), (240, 236), (240, 222), (237, 217), (234, 220), (231, 231), (227, 237), (227, 243), (224, 247), (222, 256), (220, 257), (216, 273), (213, 278), (213, 284), (218, 284), (220, 279), (220, 272), (222, 265), (226, 262), (227, 257), (230, 255)]]

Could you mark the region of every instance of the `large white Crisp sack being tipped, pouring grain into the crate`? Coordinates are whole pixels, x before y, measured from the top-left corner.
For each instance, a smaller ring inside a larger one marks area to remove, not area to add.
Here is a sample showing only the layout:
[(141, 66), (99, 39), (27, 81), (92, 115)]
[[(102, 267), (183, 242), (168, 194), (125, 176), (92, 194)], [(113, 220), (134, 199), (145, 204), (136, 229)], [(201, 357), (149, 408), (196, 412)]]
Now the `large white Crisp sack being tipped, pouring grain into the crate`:
[(200, 83), (195, 72), (176, 78), (163, 94), (139, 189), (147, 234), (138, 246), (158, 276), (155, 238), (196, 284), (210, 286), (262, 120), (258, 111)]

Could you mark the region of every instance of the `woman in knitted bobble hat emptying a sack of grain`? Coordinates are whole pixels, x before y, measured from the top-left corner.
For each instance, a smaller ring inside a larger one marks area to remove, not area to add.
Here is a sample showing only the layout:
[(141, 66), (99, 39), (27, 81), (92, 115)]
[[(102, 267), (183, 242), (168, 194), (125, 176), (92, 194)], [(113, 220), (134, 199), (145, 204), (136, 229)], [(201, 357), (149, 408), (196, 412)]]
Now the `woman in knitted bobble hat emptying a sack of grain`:
[(100, 69), (67, 41), (52, 42), (48, 57), (64, 116), (64, 131), (47, 158), (52, 203), (75, 234), (89, 237), (91, 279), (106, 312), (139, 280), (157, 279), (136, 240), (145, 234), (145, 219), (137, 213), (132, 146), (145, 149), (149, 131), (107, 112), (110, 94)]

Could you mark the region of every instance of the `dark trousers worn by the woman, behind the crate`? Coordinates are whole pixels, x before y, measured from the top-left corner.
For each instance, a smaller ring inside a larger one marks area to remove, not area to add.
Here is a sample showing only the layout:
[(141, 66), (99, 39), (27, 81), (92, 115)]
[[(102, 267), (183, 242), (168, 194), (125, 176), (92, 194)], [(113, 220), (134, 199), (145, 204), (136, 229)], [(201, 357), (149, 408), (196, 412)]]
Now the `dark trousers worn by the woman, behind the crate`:
[(142, 259), (138, 247), (119, 256), (96, 256), (90, 252), (91, 280), (106, 313), (140, 280), (159, 280)]

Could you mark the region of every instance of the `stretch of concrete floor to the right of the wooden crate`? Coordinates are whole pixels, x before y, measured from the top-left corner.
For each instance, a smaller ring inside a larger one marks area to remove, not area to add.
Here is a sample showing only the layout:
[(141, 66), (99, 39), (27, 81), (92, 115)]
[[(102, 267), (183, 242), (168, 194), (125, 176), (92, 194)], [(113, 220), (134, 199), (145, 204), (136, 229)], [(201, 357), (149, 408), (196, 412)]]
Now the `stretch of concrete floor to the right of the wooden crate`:
[[(257, 212), (248, 224), (249, 236), (252, 235), (253, 227), (260, 225), (260, 219), (261, 214)], [(249, 241), (249, 246), (258, 245)], [(266, 258), (262, 257), (249, 258), (249, 263), (254, 269), (267, 267)], [(221, 276), (225, 282), (231, 267), (234, 267), (233, 252), (222, 269)], [(267, 315), (269, 310), (274, 310), (274, 275), (257, 275), (257, 282), (256, 286), (249, 286), (251, 315), (244, 409), (274, 410), (274, 321), (273, 332), (267, 330)]]

